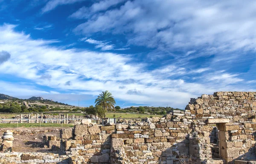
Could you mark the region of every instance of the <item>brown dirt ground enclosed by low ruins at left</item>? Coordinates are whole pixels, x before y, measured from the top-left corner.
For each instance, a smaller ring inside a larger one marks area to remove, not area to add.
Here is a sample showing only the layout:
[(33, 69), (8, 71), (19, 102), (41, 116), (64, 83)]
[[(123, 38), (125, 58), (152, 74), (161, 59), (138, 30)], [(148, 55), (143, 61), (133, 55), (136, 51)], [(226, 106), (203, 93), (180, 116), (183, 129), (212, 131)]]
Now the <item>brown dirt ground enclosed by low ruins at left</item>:
[[(63, 127), (64, 128), (64, 127)], [(15, 130), (16, 128), (0, 128), (4, 130)], [(57, 140), (60, 140), (59, 130), (61, 128), (49, 128), (49, 127), (27, 127), (27, 128), (18, 128), (20, 130), (31, 130), (31, 133), (21, 133), (13, 134), (14, 141), (12, 151), (14, 152), (42, 152), (49, 153), (51, 148), (44, 146), (43, 136), (56, 136)], [(39, 132), (38, 132), (39, 130)], [(36, 131), (36, 133), (34, 133)]]

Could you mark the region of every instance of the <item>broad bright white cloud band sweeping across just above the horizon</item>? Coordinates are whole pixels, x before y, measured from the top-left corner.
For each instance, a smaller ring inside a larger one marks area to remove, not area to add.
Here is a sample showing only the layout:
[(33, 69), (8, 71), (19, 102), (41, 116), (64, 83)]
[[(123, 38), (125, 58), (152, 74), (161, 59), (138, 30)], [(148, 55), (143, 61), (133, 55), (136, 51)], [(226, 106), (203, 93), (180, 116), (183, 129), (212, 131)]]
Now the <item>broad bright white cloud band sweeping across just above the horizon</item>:
[[(0, 65), (1, 74), (31, 82), (0, 82), (0, 90), (11, 96), (49, 96), (55, 90), (96, 96), (102, 90), (110, 90), (116, 99), (125, 102), (183, 108), (189, 98), (202, 93), (253, 89), (250, 84), (239, 83), (245, 81), (240, 75), (227, 71), (210, 69), (207, 74), (191, 76), (188, 67), (173, 64), (148, 70), (147, 64), (135, 63), (130, 55), (55, 47), (51, 45), (54, 41), (34, 40), (24, 32), (16, 32), (14, 25), (0, 26), (0, 36), (0, 51), (11, 54), (11, 58)], [(88, 42), (101, 44), (92, 39)], [(191, 82), (192, 77), (197, 80)]]

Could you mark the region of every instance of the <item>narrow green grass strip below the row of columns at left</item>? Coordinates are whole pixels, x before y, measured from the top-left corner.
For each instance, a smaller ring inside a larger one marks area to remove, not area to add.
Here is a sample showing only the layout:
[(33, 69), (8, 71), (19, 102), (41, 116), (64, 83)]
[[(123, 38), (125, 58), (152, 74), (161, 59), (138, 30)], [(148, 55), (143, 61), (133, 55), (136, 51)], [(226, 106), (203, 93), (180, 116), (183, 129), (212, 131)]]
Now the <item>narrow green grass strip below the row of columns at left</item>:
[[(73, 127), (73, 124), (54, 124), (54, 123), (45, 123), (41, 124), (41, 127)], [(0, 124), (0, 127), (40, 127), (40, 123), (19, 123), (19, 124), (9, 124), (4, 123)]]

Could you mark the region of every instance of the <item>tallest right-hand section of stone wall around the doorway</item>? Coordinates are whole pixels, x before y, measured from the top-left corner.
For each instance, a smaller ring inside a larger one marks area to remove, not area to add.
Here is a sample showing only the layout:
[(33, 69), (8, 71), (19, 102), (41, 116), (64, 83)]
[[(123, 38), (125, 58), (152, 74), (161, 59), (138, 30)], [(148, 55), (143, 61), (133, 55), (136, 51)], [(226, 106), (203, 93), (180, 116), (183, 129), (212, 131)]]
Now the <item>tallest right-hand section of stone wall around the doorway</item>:
[[(193, 117), (190, 153), (209, 161), (211, 155), (209, 132), (218, 127), (219, 156), (233, 163), (237, 159), (255, 159), (256, 93), (216, 92), (191, 99), (186, 110)], [(194, 140), (197, 140), (198, 144)]]

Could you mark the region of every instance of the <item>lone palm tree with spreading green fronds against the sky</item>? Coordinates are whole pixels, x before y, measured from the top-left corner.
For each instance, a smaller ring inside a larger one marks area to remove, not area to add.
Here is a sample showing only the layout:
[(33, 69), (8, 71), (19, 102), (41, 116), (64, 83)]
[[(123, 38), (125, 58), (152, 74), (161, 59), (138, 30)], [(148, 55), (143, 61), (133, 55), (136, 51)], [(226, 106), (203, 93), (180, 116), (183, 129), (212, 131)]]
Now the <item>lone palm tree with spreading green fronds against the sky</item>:
[(99, 94), (98, 98), (95, 100), (95, 103), (96, 106), (101, 105), (103, 109), (112, 111), (112, 109), (115, 109), (116, 101), (112, 94), (106, 90)]

